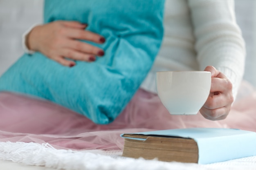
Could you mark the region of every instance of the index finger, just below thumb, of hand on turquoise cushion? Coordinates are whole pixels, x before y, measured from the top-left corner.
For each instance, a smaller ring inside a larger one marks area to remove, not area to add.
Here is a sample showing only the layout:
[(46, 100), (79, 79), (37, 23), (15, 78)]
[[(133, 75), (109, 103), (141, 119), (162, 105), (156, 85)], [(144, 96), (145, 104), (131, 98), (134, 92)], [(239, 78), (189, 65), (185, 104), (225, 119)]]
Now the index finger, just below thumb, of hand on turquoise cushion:
[(87, 40), (95, 43), (102, 44), (105, 42), (105, 38), (102, 37), (99, 34), (92, 33), (91, 31), (85, 31), (85, 30), (74, 30), (74, 29), (69, 29), (67, 30), (67, 36), (70, 38), (74, 39), (79, 39), (79, 40)]

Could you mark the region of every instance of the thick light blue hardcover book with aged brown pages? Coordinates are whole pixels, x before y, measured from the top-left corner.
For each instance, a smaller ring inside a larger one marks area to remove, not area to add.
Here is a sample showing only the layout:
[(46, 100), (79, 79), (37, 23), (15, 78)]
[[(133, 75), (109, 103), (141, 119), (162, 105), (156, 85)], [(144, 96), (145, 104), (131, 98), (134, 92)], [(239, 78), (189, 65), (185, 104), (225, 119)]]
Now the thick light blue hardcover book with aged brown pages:
[(124, 157), (207, 164), (256, 155), (256, 132), (239, 129), (170, 129), (121, 137)]

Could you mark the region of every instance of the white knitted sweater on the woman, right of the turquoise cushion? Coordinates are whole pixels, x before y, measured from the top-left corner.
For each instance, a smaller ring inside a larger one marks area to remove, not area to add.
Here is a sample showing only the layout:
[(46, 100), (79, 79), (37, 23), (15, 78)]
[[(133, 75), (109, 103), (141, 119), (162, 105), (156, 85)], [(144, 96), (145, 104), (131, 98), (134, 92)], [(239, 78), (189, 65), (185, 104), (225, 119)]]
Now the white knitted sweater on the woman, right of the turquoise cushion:
[(243, 78), (245, 43), (236, 24), (233, 0), (166, 0), (164, 39), (141, 88), (156, 93), (156, 71), (204, 70), (208, 65), (233, 83)]

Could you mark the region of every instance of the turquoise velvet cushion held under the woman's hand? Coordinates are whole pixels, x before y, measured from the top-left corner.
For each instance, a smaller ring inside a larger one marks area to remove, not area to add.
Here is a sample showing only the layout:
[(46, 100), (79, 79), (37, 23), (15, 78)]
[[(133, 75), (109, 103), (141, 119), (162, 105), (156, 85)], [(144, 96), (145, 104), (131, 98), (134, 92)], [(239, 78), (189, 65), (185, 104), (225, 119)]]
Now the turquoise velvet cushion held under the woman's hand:
[[(96, 124), (112, 122), (136, 93), (159, 51), (164, 0), (45, 0), (45, 23), (75, 20), (106, 38), (105, 55), (68, 68), (37, 52), (0, 77), (0, 91), (50, 100)], [(91, 43), (91, 42), (88, 42)]]

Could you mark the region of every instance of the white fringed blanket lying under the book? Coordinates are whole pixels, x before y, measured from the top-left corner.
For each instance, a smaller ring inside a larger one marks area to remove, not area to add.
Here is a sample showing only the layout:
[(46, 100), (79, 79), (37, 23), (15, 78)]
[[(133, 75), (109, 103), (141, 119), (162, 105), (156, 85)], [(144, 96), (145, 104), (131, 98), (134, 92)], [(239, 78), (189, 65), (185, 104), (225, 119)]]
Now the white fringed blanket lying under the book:
[(256, 156), (199, 165), (124, 158), (121, 150), (57, 150), (23, 142), (0, 142), (0, 159), (63, 170), (256, 170)]

